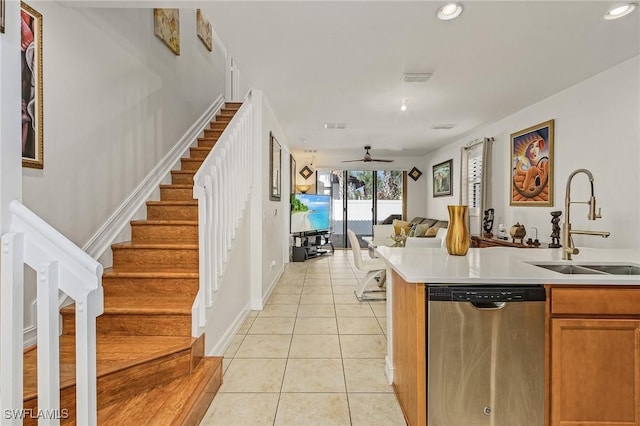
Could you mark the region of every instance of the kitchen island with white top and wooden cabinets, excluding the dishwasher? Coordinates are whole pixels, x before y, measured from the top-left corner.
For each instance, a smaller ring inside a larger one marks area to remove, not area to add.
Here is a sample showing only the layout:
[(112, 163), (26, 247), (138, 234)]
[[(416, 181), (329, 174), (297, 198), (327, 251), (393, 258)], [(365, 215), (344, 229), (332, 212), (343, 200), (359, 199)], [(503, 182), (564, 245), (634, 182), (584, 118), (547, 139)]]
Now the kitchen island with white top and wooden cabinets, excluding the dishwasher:
[(409, 425), (428, 422), (425, 291), (445, 285), (544, 285), (544, 424), (640, 424), (640, 275), (536, 266), (640, 266), (638, 251), (582, 249), (572, 261), (558, 249), (376, 251), (391, 277), (386, 370)]

